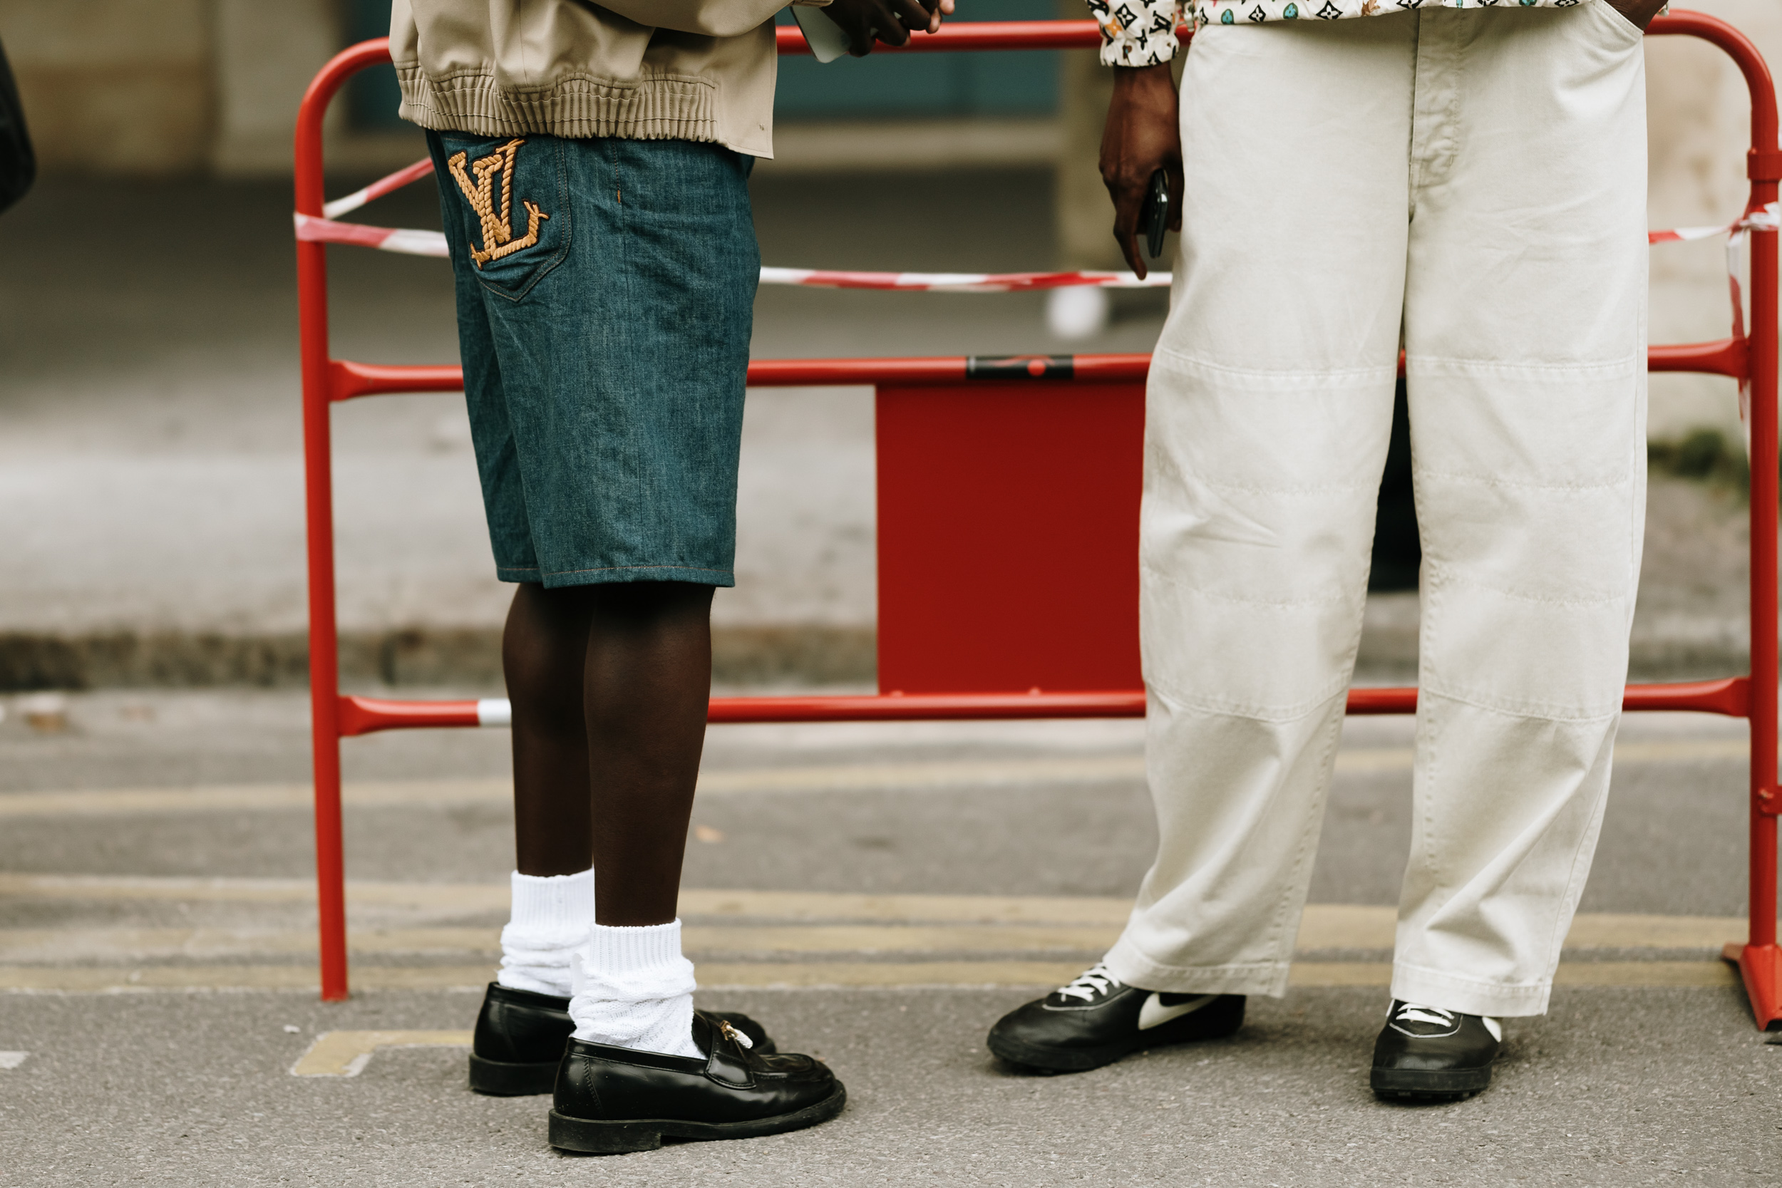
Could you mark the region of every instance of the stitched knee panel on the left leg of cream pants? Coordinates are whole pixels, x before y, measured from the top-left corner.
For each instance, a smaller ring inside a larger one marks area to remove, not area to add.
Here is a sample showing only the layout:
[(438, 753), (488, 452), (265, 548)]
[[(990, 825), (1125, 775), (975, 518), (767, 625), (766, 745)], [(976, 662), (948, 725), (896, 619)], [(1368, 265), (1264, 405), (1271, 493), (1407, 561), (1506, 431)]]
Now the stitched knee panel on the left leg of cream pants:
[(1347, 680), (1392, 370), (1153, 363), (1139, 517), (1146, 680), (1206, 712), (1294, 718)]

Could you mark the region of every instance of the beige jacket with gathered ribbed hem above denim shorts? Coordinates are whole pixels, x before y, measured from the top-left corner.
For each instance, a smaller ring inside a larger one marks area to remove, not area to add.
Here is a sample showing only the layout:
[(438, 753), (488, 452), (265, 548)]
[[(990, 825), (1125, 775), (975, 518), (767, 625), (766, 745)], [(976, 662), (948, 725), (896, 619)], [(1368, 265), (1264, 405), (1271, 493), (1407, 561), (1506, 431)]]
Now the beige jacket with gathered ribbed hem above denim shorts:
[(401, 116), (478, 135), (716, 141), (772, 157), (770, 21), (786, 2), (394, 0)]

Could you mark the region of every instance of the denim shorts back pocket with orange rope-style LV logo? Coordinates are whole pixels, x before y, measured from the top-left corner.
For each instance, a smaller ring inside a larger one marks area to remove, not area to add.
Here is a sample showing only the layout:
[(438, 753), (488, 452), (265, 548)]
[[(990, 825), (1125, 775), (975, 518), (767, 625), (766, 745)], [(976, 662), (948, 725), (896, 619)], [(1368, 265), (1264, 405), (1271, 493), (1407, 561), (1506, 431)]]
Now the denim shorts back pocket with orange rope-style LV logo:
[(446, 201), (454, 203), (485, 289), (519, 301), (568, 255), (563, 142), (551, 135), (442, 132)]

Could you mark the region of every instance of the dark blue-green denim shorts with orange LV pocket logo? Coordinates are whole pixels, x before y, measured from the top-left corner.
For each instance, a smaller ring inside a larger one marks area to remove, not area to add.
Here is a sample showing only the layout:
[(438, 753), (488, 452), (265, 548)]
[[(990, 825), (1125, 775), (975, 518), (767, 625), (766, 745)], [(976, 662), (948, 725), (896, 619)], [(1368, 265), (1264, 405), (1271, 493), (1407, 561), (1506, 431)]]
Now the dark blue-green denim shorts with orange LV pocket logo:
[(734, 586), (754, 159), (462, 132), (428, 146), (495, 575)]

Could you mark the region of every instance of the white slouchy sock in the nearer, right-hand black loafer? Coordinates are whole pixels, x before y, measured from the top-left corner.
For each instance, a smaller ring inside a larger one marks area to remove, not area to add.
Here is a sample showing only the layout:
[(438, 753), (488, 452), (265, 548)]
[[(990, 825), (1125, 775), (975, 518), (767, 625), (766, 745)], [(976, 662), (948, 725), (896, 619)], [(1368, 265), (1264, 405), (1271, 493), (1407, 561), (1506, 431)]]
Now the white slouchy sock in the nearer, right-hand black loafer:
[(593, 924), (576, 953), (576, 1038), (668, 1056), (693, 1046), (693, 962), (681, 956), (681, 921), (645, 928)]

